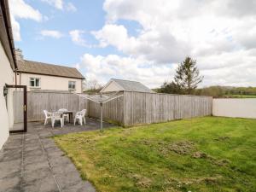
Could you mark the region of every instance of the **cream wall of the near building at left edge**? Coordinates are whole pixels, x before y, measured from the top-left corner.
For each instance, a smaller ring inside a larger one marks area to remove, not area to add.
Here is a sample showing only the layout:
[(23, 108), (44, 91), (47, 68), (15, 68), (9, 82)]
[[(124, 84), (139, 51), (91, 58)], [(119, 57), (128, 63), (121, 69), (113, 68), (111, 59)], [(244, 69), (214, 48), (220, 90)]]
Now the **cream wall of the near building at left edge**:
[[(7, 111), (6, 100), (3, 96), (5, 84), (14, 84), (14, 73), (10, 67), (9, 59), (5, 54), (3, 45), (0, 43), (0, 149), (9, 137), (9, 126), (13, 124), (13, 114)], [(9, 94), (8, 101), (12, 101)]]

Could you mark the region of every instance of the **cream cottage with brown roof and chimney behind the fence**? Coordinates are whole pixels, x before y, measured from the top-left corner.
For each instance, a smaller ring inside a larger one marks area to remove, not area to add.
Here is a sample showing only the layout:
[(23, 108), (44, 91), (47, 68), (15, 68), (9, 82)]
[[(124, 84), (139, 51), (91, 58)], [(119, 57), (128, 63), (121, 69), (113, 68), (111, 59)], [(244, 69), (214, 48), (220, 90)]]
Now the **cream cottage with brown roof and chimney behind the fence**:
[(83, 91), (84, 76), (75, 67), (64, 67), (28, 61), (23, 58), (20, 49), (15, 50), (18, 68), (15, 71), (15, 83), (32, 90), (68, 90), (76, 93)]

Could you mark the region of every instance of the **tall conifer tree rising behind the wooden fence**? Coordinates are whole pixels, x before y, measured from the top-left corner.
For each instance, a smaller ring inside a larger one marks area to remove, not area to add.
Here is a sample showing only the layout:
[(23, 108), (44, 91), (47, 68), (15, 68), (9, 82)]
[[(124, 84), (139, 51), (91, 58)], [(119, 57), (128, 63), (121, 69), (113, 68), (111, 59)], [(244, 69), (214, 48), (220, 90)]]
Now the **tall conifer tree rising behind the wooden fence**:
[(197, 88), (197, 84), (200, 84), (202, 80), (203, 76), (200, 75), (195, 60), (186, 57), (186, 59), (178, 65), (174, 83), (180, 87), (184, 93), (192, 94)]

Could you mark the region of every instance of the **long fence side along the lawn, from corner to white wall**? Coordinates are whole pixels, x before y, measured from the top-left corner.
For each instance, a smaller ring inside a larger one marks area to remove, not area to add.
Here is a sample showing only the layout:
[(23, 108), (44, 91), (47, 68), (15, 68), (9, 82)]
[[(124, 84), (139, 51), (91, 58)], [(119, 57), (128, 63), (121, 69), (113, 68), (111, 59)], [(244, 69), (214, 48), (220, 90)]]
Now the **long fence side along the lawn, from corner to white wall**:
[(125, 125), (189, 119), (212, 114), (211, 96), (183, 96), (171, 94), (125, 91)]

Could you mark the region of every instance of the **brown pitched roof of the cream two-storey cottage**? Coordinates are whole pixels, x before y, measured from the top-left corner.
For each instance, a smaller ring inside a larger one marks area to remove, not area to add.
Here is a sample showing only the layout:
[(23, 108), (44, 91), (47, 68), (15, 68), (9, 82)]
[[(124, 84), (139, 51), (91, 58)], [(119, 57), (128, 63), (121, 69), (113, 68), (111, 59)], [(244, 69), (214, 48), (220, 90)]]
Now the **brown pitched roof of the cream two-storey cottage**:
[(17, 72), (43, 74), (56, 77), (84, 79), (79, 70), (74, 67), (64, 67), (37, 61), (23, 60), (18, 63)]

